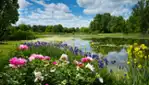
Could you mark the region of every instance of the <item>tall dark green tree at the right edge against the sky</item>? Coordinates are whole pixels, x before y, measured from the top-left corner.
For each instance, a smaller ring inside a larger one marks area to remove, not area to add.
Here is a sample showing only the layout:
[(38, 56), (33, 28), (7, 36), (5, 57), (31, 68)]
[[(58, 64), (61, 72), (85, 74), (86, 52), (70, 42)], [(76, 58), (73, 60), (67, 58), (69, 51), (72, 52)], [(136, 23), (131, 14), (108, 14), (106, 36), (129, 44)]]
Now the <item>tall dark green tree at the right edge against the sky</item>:
[(146, 33), (149, 28), (149, 0), (141, 0), (133, 8), (132, 16), (129, 18), (130, 27), (137, 30), (140, 29), (141, 33)]

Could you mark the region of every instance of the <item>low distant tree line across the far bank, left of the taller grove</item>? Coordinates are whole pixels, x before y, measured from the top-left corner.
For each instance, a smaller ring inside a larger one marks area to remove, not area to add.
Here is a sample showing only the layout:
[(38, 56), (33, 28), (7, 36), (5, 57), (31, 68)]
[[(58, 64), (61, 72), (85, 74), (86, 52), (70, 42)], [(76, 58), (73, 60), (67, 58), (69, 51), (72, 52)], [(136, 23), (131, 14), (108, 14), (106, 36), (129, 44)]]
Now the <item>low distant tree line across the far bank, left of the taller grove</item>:
[(89, 32), (88, 27), (63, 27), (61, 24), (58, 25), (26, 25), (20, 24), (18, 26), (10, 26), (9, 31), (32, 31), (32, 32), (46, 32), (46, 33), (75, 33), (75, 32)]

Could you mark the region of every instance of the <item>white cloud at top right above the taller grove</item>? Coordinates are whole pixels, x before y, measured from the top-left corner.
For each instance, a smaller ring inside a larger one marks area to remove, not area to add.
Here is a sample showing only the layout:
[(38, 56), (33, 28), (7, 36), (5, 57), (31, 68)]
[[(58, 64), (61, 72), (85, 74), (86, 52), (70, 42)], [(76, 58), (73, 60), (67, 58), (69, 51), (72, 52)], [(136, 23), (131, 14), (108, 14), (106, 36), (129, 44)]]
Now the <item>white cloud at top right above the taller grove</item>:
[[(85, 14), (111, 13), (112, 15), (130, 14), (130, 6), (138, 0), (77, 0)], [(126, 7), (123, 7), (126, 5)]]

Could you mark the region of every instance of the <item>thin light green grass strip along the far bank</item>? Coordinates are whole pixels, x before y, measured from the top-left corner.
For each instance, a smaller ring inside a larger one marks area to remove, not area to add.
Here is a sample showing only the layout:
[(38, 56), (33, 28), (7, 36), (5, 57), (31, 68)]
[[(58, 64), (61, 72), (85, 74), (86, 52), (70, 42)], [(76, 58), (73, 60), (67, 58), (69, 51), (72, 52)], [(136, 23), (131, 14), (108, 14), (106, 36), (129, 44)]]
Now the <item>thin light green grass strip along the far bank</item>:
[(123, 33), (100, 33), (100, 34), (84, 34), (84, 33), (75, 33), (74, 35), (72, 33), (64, 34), (64, 33), (58, 33), (58, 34), (38, 34), (40, 37), (77, 37), (77, 38), (133, 38), (133, 39), (149, 39), (149, 34), (142, 35), (140, 33), (129, 33), (129, 34), (123, 34)]

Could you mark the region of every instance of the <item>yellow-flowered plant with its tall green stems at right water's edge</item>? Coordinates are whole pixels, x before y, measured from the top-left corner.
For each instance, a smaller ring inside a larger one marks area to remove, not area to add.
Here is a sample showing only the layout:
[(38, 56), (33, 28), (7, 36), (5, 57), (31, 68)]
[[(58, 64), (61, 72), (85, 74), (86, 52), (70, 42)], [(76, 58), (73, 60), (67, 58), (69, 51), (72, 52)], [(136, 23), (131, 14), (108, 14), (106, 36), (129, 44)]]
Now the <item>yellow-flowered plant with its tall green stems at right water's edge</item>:
[(128, 84), (149, 84), (149, 50), (145, 44), (134, 43), (127, 49), (128, 52)]

